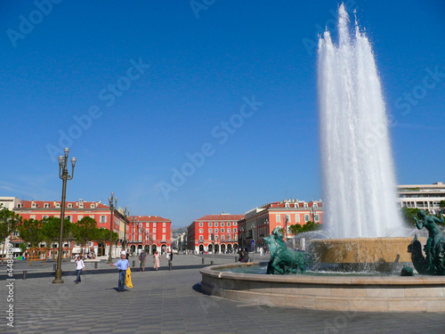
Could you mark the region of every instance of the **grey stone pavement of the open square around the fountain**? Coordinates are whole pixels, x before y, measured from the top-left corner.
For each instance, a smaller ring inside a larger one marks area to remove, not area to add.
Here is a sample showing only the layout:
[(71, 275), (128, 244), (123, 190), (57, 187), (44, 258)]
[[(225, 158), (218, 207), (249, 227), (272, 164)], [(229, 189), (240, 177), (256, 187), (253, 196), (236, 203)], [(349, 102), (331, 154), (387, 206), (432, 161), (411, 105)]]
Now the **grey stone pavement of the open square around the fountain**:
[[(211, 256), (205, 257), (208, 265)], [(233, 262), (233, 256), (214, 256), (214, 264)], [(172, 271), (165, 259), (158, 272), (150, 261), (147, 265), (143, 273), (134, 269), (134, 288), (123, 293), (117, 292), (117, 269), (106, 263), (87, 268), (79, 284), (74, 283), (74, 271), (64, 273), (63, 284), (52, 284), (53, 265), (48, 264), (48, 270), (27, 280), (19, 275), (6, 281), (2, 276), (0, 333), (425, 334), (445, 329), (445, 314), (316, 312), (206, 296), (200, 292), (203, 265), (196, 256), (175, 256)], [(14, 270), (21, 273), (20, 266), (14, 264)], [(5, 266), (0, 269), (4, 274)], [(13, 328), (7, 326), (9, 304)]]

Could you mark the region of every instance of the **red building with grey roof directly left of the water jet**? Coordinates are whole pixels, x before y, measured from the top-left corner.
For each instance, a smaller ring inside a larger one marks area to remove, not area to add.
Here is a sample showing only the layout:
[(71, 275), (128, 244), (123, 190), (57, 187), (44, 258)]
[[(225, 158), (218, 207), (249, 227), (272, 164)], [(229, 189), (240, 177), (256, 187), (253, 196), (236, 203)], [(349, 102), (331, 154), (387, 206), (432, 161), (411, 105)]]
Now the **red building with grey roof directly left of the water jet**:
[(252, 250), (252, 240), (255, 248), (264, 247), (263, 237), (268, 236), (276, 228), (285, 231), (285, 238), (294, 235), (289, 231), (293, 224), (306, 224), (308, 221), (323, 223), (323, 202), (312, 200), (282, 200), (263, 205), (247, 211), (244, 219), (239, 223), (239, 247)]

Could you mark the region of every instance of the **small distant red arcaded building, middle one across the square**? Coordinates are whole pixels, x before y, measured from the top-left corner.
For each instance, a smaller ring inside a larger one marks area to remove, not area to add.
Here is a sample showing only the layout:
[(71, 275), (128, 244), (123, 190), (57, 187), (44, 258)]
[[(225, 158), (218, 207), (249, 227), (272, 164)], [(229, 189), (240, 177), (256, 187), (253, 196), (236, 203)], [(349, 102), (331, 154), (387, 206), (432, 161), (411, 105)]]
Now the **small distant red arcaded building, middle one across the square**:
[[(238, 221), (244, 215), (207, 215), (187, 227), (189, 249), (196, 252), (225, 253), (236, 250), (238, 243)], [(214, 240), (211, 240), (212, 234)]]

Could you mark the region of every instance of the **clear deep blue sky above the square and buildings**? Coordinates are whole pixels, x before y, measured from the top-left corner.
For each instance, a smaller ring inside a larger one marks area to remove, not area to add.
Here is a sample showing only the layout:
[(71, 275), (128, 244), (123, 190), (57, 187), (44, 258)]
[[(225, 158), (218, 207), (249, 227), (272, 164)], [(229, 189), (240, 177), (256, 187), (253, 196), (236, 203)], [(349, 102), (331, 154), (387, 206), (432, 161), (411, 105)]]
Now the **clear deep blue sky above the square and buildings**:
[[(69, 144), (67, 200), (114, 191), (174, 226), (322, 199), (316, 44), (338, 4), (2, 1), (0, 195), (61, 200)], [(376, 54), (397, 183), (445, 182), (445, 3), (345, 4)]]

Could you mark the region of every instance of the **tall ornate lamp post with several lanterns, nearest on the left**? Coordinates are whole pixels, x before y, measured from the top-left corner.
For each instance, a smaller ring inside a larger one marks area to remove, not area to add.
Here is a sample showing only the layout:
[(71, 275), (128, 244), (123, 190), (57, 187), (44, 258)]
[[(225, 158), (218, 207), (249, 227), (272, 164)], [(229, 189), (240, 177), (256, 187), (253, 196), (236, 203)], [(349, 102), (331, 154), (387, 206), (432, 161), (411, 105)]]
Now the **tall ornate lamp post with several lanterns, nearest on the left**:
[(63, 221), (65, 219), (65, 199), (67, 197), (67, 181), (71, 180), (74, 175), (74, 167), (76, 166), (77, 159), (71, 158), (71, 167), (73, 168), (71, 171), (71, 175), (68, 174), (68, 155), (69, 148), (66, 147), (63, 150), (65, 153), (65, 157), (59, 156), (59, 177), (61, 178), (62, 187), (61, 187), (61, 233), (59, 235), (59, 254), (57, 255), (57, 269), (55, 273), (55, 278), (53, 283), (61, 284), (63, 280), (61, 279), (61, 253), (63, 251), (62, 248), (62, 240), (63, 240)]

